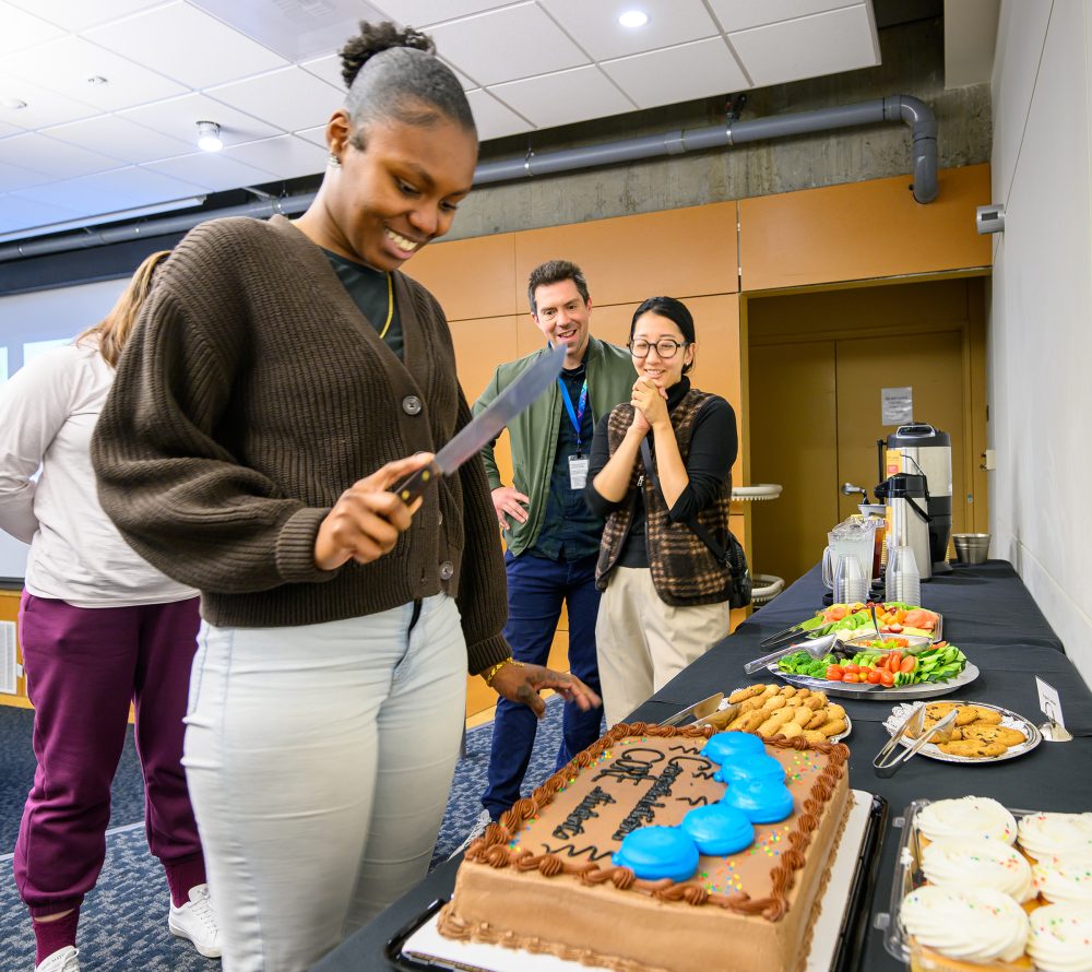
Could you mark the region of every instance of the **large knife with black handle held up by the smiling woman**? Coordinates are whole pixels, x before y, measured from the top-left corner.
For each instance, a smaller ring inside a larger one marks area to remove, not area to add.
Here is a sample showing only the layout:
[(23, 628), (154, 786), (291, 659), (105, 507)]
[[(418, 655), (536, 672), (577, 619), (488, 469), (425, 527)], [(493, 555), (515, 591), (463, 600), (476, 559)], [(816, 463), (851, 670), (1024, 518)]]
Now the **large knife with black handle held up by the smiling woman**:
[(490, 402), (485, 412), (463, 426), (428, 465), (417, 470), (394, 488), (399, 498), (405, 503), (413, 502), (425, 491), (434, 476), (450, 476), (467, 459), (476, 455), (483, 446), (496, 439), (561, 374), (567, 351), (566, 345), (558, 344), (527, 368)]

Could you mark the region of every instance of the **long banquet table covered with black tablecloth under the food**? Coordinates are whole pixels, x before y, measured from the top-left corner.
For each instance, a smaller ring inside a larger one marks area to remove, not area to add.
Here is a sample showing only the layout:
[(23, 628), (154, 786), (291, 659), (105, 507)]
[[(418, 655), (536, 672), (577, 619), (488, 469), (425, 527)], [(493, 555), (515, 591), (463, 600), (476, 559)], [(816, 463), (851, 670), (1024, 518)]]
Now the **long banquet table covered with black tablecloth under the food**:
[[(824, 588), (816, 567), (736, 631), (715, 644), (663, 689), (644, 702), (629, 722), (658, 722), (713, 691), (772, 678), (743, 674), (746, 661), (765, 653), (759, 642), (811, 616), (821, 607)], [(943, 617), (943, 637), (958, 644), (981, 669), (978, 678), (959, 698), (989, 702), (1044, 722), (1038, 711), (1035, 676), (1057, 689), (1068, 743), (1044, 740), (1016, 759), (978, 766), (953, 764), (923, 758), (910, 760), (895, 775), (880, 779), (871, 761), (889, 738), (883, 720), (891, 706), (882, 701), (840, 699), (853, 722), (845, 740), (850, 747), (850, 785), (878, 794), (888, 805), (882, 825), (876, 882), (860, 927), (866, 930), (854, 949), (850, 967), (867, 972), (904, 969), (883, 948), (876, 916), (890, 904), (900, 831), (892, 820), (914, 799), (990, 796), (1010, 808), (1078, 813), (1092, 810), (1092, 691), (1035, 605), (1011, 565), (990, 560), (956, 567), (922, 585), (923, 606)], [(424, 881), (378, 915), (316, 965), (317, 972), (385, 968), (388, 939), (437, 898), (450, 896), (461, 855), (438, 867)], [(710, 967), (712, 968), (712, 967)]]

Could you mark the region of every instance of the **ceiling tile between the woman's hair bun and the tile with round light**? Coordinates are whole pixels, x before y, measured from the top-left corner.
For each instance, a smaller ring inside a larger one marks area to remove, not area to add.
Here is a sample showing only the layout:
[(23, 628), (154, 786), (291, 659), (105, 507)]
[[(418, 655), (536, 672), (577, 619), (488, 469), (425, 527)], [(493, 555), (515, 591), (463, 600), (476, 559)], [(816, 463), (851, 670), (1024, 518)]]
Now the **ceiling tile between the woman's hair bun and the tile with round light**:
[[(534, 3), (452, 21), (429, 33), (446, 60), (484, 85), (589, 62), (580, 48)], [(513, 39), (499, 43), (502, 37)], [(520, 43), (517, 38), (534, 40)]]

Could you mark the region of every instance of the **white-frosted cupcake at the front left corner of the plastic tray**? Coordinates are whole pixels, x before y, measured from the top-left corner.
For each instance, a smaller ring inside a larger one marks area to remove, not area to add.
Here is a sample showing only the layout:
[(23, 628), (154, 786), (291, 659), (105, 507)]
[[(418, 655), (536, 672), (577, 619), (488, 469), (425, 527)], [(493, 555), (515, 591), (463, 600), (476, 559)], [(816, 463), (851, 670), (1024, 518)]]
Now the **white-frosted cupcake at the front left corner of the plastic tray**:
[(926, 885), (903, 898), (899, 918), (918, 946), (959, 961), (1014, 962), (1028, 941), (1024, 910), (989, 888)]

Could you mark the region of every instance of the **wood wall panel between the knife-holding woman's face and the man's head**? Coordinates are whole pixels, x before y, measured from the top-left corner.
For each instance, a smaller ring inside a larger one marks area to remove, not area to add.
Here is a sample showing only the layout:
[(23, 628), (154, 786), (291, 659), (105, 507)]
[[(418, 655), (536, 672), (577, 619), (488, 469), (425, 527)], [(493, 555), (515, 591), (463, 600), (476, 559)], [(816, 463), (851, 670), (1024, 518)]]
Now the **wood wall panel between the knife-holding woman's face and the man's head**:
[(406, 273), (432, 292), (449, 321), (520, 313), (513, 300), (515, 234), (455, 239), (425, 247)]

